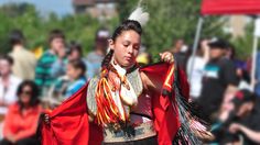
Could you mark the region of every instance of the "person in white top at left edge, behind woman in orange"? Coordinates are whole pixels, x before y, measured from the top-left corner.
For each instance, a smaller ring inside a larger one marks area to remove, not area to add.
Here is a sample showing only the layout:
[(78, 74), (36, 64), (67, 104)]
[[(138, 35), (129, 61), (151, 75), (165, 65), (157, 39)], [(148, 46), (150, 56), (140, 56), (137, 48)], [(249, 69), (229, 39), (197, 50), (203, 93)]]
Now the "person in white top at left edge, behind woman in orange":
[(0, 57), (0, 115), (7, 113), (8, 105), (17, 100), (17, 89), (21, 79), (11, 71), (13, 60), (10, 56)]

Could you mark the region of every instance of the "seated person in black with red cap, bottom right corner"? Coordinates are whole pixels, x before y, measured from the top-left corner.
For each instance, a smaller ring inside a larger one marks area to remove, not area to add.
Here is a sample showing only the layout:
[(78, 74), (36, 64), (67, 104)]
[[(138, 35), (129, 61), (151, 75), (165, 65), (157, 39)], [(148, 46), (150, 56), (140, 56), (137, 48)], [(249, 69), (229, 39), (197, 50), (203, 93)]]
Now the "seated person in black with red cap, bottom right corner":
[(259, 144), (260, 110), (259, 99), (248, 90), (240, 90), (213, 125), (217, 143)]

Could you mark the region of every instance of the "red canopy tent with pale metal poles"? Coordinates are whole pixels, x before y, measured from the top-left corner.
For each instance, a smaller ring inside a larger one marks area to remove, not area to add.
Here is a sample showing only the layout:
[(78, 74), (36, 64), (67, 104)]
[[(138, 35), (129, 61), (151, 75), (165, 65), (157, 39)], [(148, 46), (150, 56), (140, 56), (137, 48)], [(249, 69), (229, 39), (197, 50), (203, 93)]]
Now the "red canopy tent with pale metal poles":
[[(202, 15), (229, 15), (229, 14), (258, 15), (260, 14), (260, 0), (203, 0), (201, 13)], [(197, 24), (197, 32), (196, 32), (196, 36), (195, 36), (194, 45), (193, 45), (193, 60), (192, 60), (193, 63), (192, 64), (194, 64), (194, 56), (195, 56), (195, 52), (198, 45), (202, 26), (203, 26), (203, 18), (201, 16)], [(254, 36), (253, 51), (252, 51), (251, 78), (254, 78), (257, 46), (258, 46), (258, 37)], [(192, 70), (193, 68), (191, 69), (191, 71)], [(251, 88), (253, 89), (253, 81), (251, 82)]]

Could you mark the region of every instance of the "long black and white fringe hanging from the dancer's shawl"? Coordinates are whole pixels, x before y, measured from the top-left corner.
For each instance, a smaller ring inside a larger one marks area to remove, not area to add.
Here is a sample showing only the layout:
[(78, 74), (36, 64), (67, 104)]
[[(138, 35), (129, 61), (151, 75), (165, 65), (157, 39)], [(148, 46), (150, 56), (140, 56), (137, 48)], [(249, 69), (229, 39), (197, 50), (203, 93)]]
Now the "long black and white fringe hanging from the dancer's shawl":
[[(176, 66), (175, 66), (176, 67)], [(178, 85), (177, 70), (174, 76), (173, 89), (175, 92), (176, 105), (178, 107), (178, 116), (181, 127), (173, 141), (173, 145), (201, 145), (203, 142), (197, 135), (205, 136), (207, 134), (207, 123), (201, 120), (193, 107), (185, 100), (181, 93)], [(196, 135), (195, 135), (196, 133)]]

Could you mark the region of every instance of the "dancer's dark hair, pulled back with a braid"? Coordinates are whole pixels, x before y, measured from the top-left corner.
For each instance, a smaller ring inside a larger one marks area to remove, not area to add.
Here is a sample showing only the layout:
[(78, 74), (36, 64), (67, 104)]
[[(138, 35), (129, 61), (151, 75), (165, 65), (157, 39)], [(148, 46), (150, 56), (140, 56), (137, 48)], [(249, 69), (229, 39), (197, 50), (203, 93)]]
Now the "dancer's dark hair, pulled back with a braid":
[[(126, 20), (115, 30), (111, 40), (116, 41), (117, 37), (122, 34), (122, 32), (130, 31), (130, 30), (137, 32), (139, 35), (142, 35), (142, 26), (138, 21)], [(112, 55), (113, 55), (113, 51), (110, 49), (110, 52), (102, 59), (102, 63), (101, 63), (102, 68), (108, 66), (108, 64), (110, 63), (112, 58)]]

